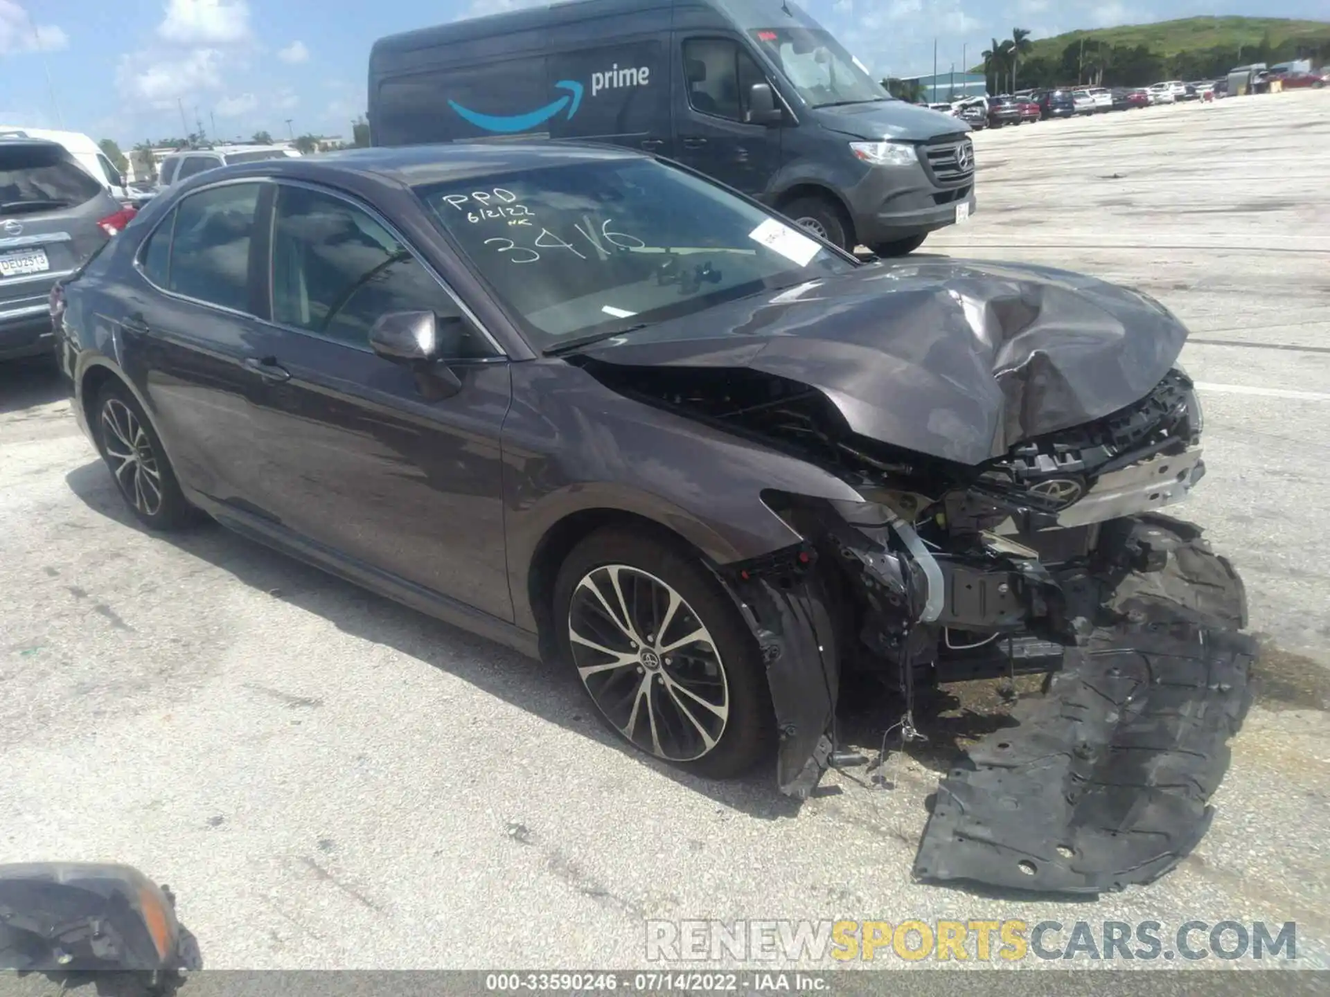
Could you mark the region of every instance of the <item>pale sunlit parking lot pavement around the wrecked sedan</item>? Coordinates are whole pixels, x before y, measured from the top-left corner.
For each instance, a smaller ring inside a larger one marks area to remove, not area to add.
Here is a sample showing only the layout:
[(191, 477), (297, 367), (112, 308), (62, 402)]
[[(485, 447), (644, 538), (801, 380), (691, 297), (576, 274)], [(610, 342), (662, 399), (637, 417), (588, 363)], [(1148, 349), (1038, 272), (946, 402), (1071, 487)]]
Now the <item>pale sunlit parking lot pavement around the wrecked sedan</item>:
[[(1297, 965), (1330, 965), (1327, 146), (1326, 92), (980, 133), (979, 213), (923, 250), (1132, 283), (1192, 328), (1209, 475), (1184, 513), (1266, 655), (1214, 824), (1161, 881), (911, 883), (983, 686), (891, 788), (833, 774), (794, 807), (767, 774), (654, 764), (559, 673), (219, 528), (148, 536), (32, 366), (0, 368), (0, 861), (137, 865), (213, 968), (632, 968), (646, 919), (702, 917), (1297, 921)], [(894, 719), (854, 730), (875, 750)]]

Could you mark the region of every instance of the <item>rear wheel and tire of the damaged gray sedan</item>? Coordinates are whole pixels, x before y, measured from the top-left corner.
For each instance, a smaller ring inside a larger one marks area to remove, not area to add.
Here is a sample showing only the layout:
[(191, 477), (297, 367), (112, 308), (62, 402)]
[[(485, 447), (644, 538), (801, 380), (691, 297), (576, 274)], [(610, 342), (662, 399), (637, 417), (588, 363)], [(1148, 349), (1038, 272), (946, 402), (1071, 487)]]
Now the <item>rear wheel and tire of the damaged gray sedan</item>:
[(202, 518), (180, 491), (157, 431), (128, 388), (109, 382), (101, 389), (92, 428), (120, 496), (140, 522), (154, 530), (173, 530)]

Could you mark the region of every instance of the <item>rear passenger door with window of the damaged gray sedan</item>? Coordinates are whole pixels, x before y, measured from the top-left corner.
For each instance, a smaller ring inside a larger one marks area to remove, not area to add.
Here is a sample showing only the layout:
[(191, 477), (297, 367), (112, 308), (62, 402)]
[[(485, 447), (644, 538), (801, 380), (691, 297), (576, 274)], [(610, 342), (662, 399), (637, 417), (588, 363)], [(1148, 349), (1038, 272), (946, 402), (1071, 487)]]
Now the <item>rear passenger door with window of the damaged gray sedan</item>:
[(254, 488), (249, 399), (262, 384), (258, 316), (267, 306), (251, 271), (270, 190), (230, 182), (182, 198), (140, 249), (138, 283), (110, 291), (121, 366), (148, 399), (180, 479), (217, 501), (245, 502)]

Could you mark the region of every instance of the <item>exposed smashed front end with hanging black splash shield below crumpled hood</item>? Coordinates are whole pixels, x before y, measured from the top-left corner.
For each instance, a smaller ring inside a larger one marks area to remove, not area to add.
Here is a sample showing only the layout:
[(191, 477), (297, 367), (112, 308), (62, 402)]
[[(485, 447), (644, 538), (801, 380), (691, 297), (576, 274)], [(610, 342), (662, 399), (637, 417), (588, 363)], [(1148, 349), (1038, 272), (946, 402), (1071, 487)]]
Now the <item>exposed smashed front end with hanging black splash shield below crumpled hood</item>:
[(747, 368), (583, 358), (606, 386), (814, 463), (863, 502), (766, 493), (798, 548), (722, 576), (758, 638), (783, 792), (837, 764), (842, 673), (899, 694), (1044, 674), (1016, 727), (942, 780), (923, 880), (1100, 892), (1148, 883), (1204, 835), (1256, 642), (1241, 581), (1157, 514), (1201, 479), (1201, 409), (1178, 368), (1100, 419), (963, 464), (851, 429), (823, 389)]

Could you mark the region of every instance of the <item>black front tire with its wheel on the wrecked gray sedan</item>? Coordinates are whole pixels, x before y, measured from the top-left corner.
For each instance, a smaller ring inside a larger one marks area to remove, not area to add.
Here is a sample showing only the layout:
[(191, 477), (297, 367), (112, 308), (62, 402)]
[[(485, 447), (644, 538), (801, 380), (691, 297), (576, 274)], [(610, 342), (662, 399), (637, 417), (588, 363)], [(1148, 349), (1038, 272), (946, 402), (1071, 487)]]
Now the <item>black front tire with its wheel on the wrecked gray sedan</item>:
[[(614, 598), (613, 578), (622, 600)], [(595, 596), (601, 586), (608, 602)], [(669, 590), (680, 602), (664, 633), (653, 634), (672, 601)], [(613, 622), (605, 613), (610, 605), (616, 606)], [(620, 622), (625, 613), (633, 618), (626, 629)], [(742, 775), (774, 754), (775, 715), (757, 639), (717, 578), (682, 542), (618, 526), (591, 534), (559, 570), (553, 621), (565, 666), (601, 719), (634, 747), (710, 779)], [(571, 638), (573, 630), (577, 642)], [(698, 631), (709, 639), (668, 650), (670, 642)], [(588, 639), (602, 650), (593, 650)], [(580, 669), (598, 671), (584, 677)], [(680, 686), (686, 694), (676, 691)], [(713, 705), (710, 710), (694, 702), (698, 695)], [(693, 707), (688, 718), (680, 703)]]

